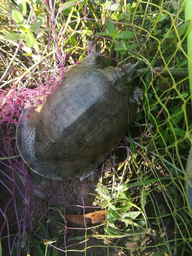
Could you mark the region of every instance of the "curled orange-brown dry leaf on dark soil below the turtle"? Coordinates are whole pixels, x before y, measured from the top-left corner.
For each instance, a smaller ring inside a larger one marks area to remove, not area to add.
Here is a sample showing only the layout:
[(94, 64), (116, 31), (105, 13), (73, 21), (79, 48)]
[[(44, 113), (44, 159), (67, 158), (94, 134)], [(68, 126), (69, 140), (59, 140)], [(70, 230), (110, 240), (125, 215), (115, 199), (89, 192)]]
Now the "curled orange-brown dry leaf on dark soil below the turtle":
[(67, 214), (65, 215), (68, 220), (75, 224), (84, 225), (91, 223), (100, 222), (105, 218), (106, 210), (101, 210), (97, 212), (87, 213), (85, 215), (74, 215), (74, 214)]

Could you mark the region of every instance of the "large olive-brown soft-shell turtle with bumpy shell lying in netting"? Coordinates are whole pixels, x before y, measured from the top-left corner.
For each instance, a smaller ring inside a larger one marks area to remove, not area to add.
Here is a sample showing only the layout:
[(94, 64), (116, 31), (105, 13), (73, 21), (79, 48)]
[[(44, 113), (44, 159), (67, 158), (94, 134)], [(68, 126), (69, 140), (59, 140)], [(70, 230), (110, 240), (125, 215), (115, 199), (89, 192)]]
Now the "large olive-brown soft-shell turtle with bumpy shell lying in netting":
[(131, 84), (138, 63), (123, 71), (105, 67), (97, 44), (88, 41), (87, 50), (43, 105), (24, 108), (16, 128), (22, 159), (47, 178), (72, 179), (94, 170), (122, 139), (142, 99)]

